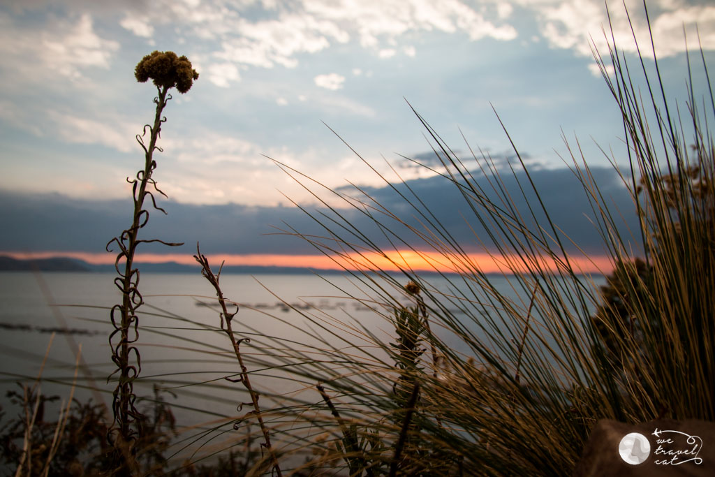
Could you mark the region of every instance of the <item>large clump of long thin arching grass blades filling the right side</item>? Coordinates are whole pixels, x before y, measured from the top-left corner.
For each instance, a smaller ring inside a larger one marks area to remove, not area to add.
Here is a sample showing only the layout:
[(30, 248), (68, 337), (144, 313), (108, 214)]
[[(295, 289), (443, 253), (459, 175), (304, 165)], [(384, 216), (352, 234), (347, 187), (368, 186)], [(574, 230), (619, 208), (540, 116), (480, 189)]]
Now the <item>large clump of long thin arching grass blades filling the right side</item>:
[[(601, 419), (715, 419), (715, 102), (701, 50), (706, 96), (695, 95), (689, 54), (689, 99), (672, 102), (655, 42), (651, 35), (636, 64), (612, 40), (605, 55), (596, 52), (628, 154), (609, 159), (631, 191), (638, 230), (624, 232), (581, 148), (567, 143), (613, 262), (600, 291), (578, 265), (589, 257), (568, 252), (571, 240), (511, 137), (523, 176), (510, 180), (526, 207), (488, 154), (469, 147), (472, 157), (459, 157), (415, 112), (440, 161), (433, 172), (459, 192), (465, 220), (485, 230), (472, 244), (408, 182), (385, 180), (401, 200), (389, 208), (359, 187), (352, 196), (329, 190), (279, 163), (322, 203), (322, 211), (303, 209), (322, 233), (286, 232), (350, 273), (396, 337), (346, 322), (340, 327), (354, 338), (335, 345), (330, 320), (304, 313), (327, 355), (310, 360), (296, 348), (292, 358), (303, 363), (296, 375), (320, 383), (325, 404), (312, 419), (330, 438), (314, 466), (342, 459), (351, 476), (568, 475)], [(377, 235), (358, 229), (355, 216)], [(501, 263), (502, 277), (480, 270), (475, 245)], [(405, 252), (433, 273), (413, 270)], [(505, 277), (513, 293), (498, 285)]]

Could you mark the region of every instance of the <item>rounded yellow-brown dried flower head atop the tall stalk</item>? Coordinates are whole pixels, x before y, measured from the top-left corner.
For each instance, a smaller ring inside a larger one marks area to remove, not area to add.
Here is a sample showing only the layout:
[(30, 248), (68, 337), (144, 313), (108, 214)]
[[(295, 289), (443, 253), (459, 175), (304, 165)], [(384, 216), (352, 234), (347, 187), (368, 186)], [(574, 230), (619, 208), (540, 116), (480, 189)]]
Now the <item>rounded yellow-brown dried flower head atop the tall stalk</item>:
[(194, 80), (199, 79), (199, 74), (186, 56), (177, 56), (174, 51), (154, 51), (137, 64), (134, 77), (140, 83), (151, 78), (157, 87), (176, 87), (179, 93), (185, 93), (191, 89)]

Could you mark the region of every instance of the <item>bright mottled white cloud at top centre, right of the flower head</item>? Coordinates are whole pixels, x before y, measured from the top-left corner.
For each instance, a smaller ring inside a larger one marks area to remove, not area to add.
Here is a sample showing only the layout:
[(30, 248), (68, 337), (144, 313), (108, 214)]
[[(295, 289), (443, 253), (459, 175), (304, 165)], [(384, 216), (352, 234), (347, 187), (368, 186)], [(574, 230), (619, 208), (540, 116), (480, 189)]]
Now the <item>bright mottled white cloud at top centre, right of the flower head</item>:
[[(126, 14), (124, 28), (149, 36), (160, 25), (180, 37), (218, 44), (209, 51), (219, 62), (237, 66), (293, 68), (302, 54), (316, 54), (355, 39), (365, 48), (395, 48), (405, 34), (420, 31), (465, 33), (510, 40), (516, 30), (506, 24), (508, 4), (485, 9), (465, 0), (156, 0), (141, 14)], [(255, 11), (262, 9), (257, 18)], [(210, 46), (209, 46), (210, 48)], [(410, 49), (405, 54), (410, 54)], [(383, 53), (385, 54), (385, 53)]]

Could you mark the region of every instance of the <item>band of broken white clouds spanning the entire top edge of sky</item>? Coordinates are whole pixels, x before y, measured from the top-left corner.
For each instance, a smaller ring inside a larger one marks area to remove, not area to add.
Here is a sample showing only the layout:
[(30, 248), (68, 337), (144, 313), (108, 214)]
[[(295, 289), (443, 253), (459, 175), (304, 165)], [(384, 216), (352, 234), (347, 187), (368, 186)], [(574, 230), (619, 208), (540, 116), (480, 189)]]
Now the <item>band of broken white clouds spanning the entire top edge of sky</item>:
[[(591, 56), (592, 36), (598, 49), (607, 51), (601, 27), (607, 25), (608, 19), (601, 0), (485, 0), (476, 4), (460, 0), (301, 0), (263, 2), (261, 6), (254, 1), (219, 0), (157, 0), (128, 6), (95, 3), (99, 2), (78, 1), (73, 4), (74, 11), (92, 12), (98, 18), (104, 15), (104, 21), (117, 21), (114, 17), (119, 16), (124, 29), (147, 39), (157, 31), (170, 31), (177, 39), (192, 39), (194, 47), (204, 54), (207, 71), (217, 71), (212, 81), (220, 86), (238, 81), (237, 72), (244, 68), (295, 68), (301, 55), (317, 54), (350, 41), (381, 57), (392, 56), (393, 49), (413, 56), (414, 47), (405, 46), (405, 42), (413, 41), (415, 34), (430, 31), (464, 34), (471, 41), (511, 41), (518, 37), (512, 24), (516, 19), (514, 6), (520, 7), (519, 16), (526, 13), (536, 19), (541, 37), (553, 48)], [(626, 4), (638, 39), (647, 45), (641, 2), (628, 0)], [(28, 5), (27, 9), (46, 9), (44, 1)], [(660, 56), (685, 50), (683, 26), (694, 46), (696, 22), (704, 48), (715, 49), (715, 5), (711, 1), (653, 0), (649, 8)], [(39, 57), (47, 67), (67, 77), (77, 79), (86, 67), (106, 68), (119, 44), (94, 31), (90, 13), (70, 18), (71, 21), (51, 24), (47, 16), (43, 28), (29, 29), (15, 26), (6, 15), (5, 21), (0, 18), (6, 30), (0, 38), (7, 44), (19, 34), (23, 40), (14, 41), (14, 46), (22, 43), (21, 49), (26, 50), (19, 58)], [(611, 19), (621, 49), (636, 51), (620, 5), (611, 5)], [(0, 46), (0, 51), (9, 49)], [(644, 54), (648, 54), (647, 50)], [(235, 69), (229, 70), (228, 64)]]

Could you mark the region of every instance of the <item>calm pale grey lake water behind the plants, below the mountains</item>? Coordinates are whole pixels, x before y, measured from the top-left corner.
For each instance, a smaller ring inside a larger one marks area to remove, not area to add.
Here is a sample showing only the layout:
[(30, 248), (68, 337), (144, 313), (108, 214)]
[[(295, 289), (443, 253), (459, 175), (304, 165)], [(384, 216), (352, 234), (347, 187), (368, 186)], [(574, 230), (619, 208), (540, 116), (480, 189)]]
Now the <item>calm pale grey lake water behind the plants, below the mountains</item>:
[[(102, 273), (0, 272), (0, 404), (4, 408), (5, 391), (19, 389), (16, 381), (27, 382), (39, 373), (52, 328), (74, 333), (55, 336), (43, 370), (43, 392), (63, 398), (69, 394), (73, 350), (81, 346), (86, 368), (80, 373), (79, 397), (111, 402), (109, 308), (121, 297), (113, 280), (114, 275)], [(266, 394), (277, 395), (277, 403), (282, 397), (320, 400), (312, 381), (266, 369), (280, 362), (283, 349), (300, 348), (319, 357), (328, 343), (359, 358), (385, 359), (384, 353), (370, 347), (360, 327), (385, 341), (394, 340), (393, 327), (385, 320), (387, 312), (373, 305), (377, 292), (339, 275), (327, 280), (332, 285), (315, 275), (222, 276), (225, 296), (242, 304), (233, 320), (234, 330), (252, 338), (252, 343), (242, 345), (252, 383)], [(448, 288), (443, 280), (432, 282), (443, 291)], [(495, 278), (494, 283), (506, 295), (520, 297), (505, 279)], [(245, 414), (245, 410), (238, 413), (236, 405), (248, 400), (247, 393), (240, 384), (223, 379), (235, 377), (240, 370), (230, 341), (215, 329), (220, 320), (216, 311), (205, 306), (215, 303), (209, 283), (198, 274), (144, 274), (139, 288), (146, 304), (139, 309), (142, 379), (135, 384), (137, 395), (151, 395), (154, 384), (169, 390), (164, 398), (174, 406), (182, 426), (230, 421)], [(528, 297), (521, 299), (528, 302)], [(289, 310), (282, 300), (300, 312)], [(459, 345), (455, 341), (455, 347)], [(265, 402), (268, 399), (261, 400), (265, 407), (271, 405)]]

